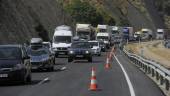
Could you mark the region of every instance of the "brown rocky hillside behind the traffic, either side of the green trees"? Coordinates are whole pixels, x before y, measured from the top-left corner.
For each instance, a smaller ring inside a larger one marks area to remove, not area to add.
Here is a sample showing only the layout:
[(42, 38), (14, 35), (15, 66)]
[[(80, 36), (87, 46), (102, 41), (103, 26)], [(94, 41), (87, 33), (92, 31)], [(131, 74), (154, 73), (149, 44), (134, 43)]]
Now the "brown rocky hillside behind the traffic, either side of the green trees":
[[(63, 6), (75, 0), (64, 1), (63, 5), (62, 0), (0, 0), (0, 43), (22, 43), (32, 37), (49, 40), (57, 25), (74, 26), (76, 18)], [(100, 23), (134, 26), (135, 30), (170, 27), (170, 0), (81, 1), (88, 2), (101, 14), (102, 18), (96, 19)]]

